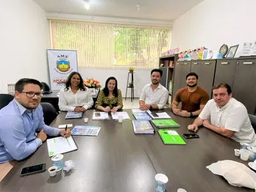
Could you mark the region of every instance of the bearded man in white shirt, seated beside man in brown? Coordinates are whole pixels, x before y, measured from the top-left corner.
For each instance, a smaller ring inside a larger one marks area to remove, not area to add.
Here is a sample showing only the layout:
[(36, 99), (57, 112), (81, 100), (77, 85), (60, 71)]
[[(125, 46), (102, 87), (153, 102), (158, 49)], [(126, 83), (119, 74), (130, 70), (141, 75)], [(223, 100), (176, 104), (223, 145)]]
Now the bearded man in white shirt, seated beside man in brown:
[(154, 68), (151, 71), (151, 82), (146, 84), (140, 96), (140, 109), (163, 109), (168, 99), (169, 92), (160, 84), (163, 71)]

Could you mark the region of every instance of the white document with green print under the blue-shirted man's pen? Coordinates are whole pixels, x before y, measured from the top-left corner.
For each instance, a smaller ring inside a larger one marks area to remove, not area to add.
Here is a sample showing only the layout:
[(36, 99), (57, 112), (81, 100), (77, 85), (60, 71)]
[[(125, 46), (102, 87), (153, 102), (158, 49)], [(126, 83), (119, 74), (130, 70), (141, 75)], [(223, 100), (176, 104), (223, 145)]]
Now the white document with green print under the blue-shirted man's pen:
[(70, 152), (72, 150), (77, 150), (77, 146), (72, 136), (68, 138), (58, 137), (48, 139), (47, 148), (49, 157), (52, 157), (56, 154), (64, 154), (66, 152)]

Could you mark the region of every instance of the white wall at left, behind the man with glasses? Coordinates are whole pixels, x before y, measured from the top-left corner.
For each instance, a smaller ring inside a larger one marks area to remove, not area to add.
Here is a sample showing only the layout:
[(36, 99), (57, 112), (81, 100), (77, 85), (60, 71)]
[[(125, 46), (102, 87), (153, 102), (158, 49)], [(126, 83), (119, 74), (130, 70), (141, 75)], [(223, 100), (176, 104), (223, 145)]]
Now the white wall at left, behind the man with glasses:
[(47, 82), (49, 24), (44, 10), (32, 0), (1, 1), (0, 24), (0, 92), (22, 77)]

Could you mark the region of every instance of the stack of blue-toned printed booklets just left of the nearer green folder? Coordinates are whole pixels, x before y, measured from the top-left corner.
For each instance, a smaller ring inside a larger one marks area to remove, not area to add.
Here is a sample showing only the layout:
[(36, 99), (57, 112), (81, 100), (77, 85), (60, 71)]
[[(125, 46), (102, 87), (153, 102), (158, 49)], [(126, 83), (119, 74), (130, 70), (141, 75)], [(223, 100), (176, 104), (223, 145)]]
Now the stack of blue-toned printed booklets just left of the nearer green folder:
[(154, 134), (155, 129), (148, 120), (133, 120), (133, 131), (140, 134)]

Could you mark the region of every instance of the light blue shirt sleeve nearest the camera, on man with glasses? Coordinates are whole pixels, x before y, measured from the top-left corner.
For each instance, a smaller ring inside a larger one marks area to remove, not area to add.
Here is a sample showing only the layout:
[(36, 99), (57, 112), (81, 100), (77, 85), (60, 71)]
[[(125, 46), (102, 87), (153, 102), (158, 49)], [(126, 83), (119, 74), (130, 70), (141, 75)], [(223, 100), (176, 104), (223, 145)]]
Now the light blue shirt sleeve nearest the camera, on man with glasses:
[(1, 129), (0, 137), (4, 143), (5, 150), (13, 159), (24, 159), (33, 154), (42, 145), (42, 140), (38, 138), (26, 143), (24, 124), (19, 116), (8, 115), (5, 116), (4, 121), (8, 122), (8, 124), (5, 124)]

